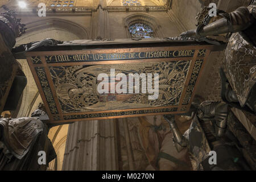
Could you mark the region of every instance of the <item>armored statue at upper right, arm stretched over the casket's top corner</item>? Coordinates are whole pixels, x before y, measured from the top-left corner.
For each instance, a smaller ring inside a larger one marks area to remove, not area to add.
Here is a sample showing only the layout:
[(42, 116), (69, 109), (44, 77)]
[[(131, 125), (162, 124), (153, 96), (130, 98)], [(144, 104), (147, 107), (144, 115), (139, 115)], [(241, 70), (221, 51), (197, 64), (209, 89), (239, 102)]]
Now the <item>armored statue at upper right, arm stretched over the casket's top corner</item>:
[[(221, 11), (222, 12), (222, 11)], [(256, 1), (232, 13), (220, 13), (221, 19), (199, 24), (196, 30), (181, 34), (183, 39), (231, 34), (225, 50), (220, 75), (222, 100), (254, 113), (256, 111)]]

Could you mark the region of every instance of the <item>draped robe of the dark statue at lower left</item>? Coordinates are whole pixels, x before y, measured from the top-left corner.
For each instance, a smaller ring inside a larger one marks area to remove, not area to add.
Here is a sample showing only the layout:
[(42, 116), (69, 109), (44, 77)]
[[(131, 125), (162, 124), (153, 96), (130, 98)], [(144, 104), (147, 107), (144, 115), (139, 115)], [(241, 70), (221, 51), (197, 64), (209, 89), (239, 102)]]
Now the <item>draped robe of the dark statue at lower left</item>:
[[(1, 118), (0, 170), (46, 170), (56, 158), (47, 135), (47, 125), (37, 118)], [(46, 152), (46, 164), (38, 163), (39, 151)]]

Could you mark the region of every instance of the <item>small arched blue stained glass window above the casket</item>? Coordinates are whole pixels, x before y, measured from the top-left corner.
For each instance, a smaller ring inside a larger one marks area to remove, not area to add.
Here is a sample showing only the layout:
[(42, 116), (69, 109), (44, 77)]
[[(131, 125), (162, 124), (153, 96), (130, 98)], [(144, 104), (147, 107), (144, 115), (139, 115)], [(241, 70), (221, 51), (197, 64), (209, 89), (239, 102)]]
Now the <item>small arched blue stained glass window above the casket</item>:
[(135, 23), (129, 27), (131, 38), (154, 38), (153, 29), (147, 24)]

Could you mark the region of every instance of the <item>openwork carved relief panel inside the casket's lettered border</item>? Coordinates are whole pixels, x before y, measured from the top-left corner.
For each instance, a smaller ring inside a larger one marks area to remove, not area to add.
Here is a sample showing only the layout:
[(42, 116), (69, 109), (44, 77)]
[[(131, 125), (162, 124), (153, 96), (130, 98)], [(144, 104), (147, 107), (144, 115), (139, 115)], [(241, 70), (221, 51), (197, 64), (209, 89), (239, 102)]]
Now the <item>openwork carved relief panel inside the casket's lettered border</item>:
[[(171, 61), (168, 63), (113, 64), (90, 67), (63, 66), (50, 67), (50, 72), (63, 113), (71, 113), (179, 105), (190, 64), (191, 61)], [(97, 76), (100, 73), (110, 75), (110, 69), (113, 68), (116, 74), (152, 73), (154, 75), (154, 73), (159, 73), (158, 99), (148, 100), (148, 94), (143, 93), (99, 94), (97, 92)]]

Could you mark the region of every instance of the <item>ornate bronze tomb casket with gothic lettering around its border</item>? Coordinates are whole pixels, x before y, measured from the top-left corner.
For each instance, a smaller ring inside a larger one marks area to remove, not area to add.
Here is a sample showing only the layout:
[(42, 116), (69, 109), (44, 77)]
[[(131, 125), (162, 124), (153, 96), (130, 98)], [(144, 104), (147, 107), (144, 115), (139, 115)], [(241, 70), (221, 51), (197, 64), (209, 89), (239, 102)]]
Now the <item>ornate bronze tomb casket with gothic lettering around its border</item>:
[[(84, 42), (26, 53), (50, 123), (187, 113), (207, 57), (219, 48), (192, 41)], [(98, 92), (101, 73), (109, 76), (109, 93)], [(119, 85), (127, 93), (112, 92), (124, 79), (118, 78), (118, 73), (127, 75), (127, 86)], [(153, 93), (142, 93), (142, 77), (139, 93), (135, 84), (128, 84), (129, 74), (136, 73), (145, 73), (144, 81), (151, 73), (152, 88), (154, 74), (158, 74), (155, 100), (148, 99)]]

